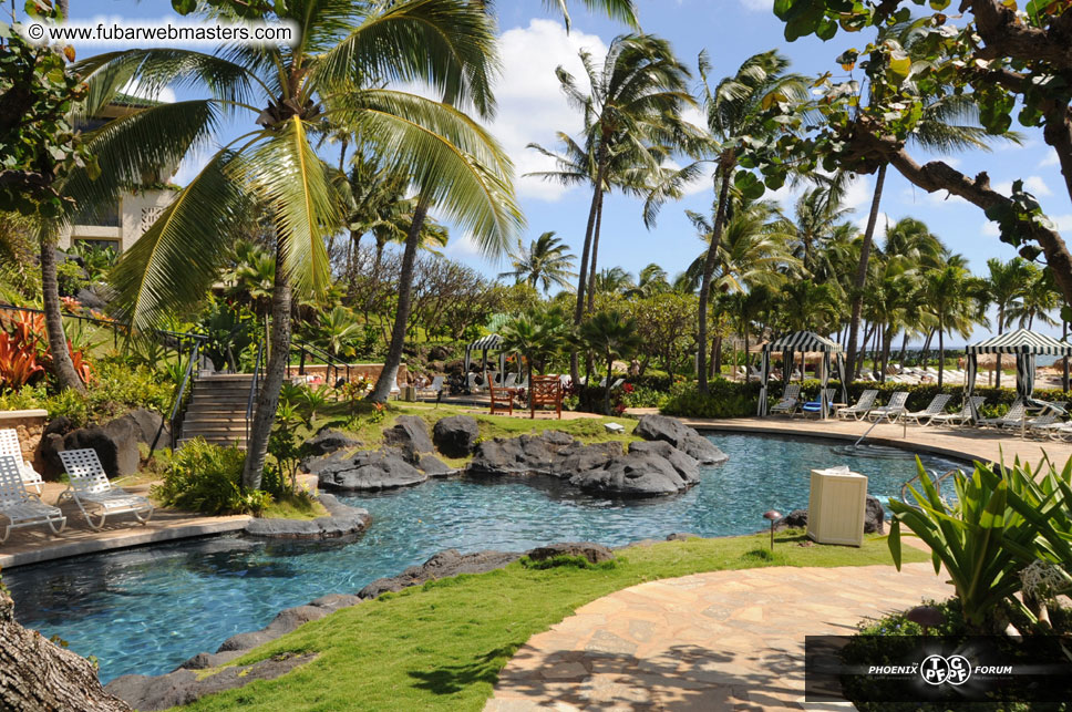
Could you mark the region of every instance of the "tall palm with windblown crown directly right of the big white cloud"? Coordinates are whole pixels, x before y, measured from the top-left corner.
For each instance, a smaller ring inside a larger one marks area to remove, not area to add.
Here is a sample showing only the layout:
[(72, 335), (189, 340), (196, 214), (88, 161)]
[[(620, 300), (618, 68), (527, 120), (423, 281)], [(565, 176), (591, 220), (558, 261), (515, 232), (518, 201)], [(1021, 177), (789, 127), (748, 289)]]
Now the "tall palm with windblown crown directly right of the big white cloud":
[[(604, 194), (612, 185), (630, 188), (643, 184), (638, 175), (662, 168), (668, 146), (686, 141), (680, 114), (683, 105), (692, 103), (686, 85), (689, 71), (674, 58), (670, 43), (660, 38), (620, 35), (610, 43), (601, 65), (586, 50), (580, 52), (580, 60), (590, 84), (588, 93), (580, 91), (576, 79), (561, 66), (556, 73), (569, 103), (585, 115), (584, 144), (559, 134), (567, 148), (564, 156), (533, 145), (559, 163), (559, 171), (533, 175), (567, 184), (584, 182), (592, 189), (574, 310), (577, 324), (585, 312), (587, 282), (595, 281), (589, 264), (595, 262), (596, 224)], [(569, 368), (576, 382), (576, 354)]]

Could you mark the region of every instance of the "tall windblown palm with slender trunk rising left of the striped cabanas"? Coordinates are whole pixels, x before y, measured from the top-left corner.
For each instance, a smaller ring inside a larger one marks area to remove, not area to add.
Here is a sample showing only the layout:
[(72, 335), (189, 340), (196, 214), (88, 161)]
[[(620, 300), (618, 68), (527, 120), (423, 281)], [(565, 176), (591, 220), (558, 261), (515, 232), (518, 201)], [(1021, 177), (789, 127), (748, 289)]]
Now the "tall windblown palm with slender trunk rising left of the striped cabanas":
[[(699, 341), (699, 389), (708, 391), (707, 343), (708, 343), (708, 302), (711, 298), (711, 282), (719, 261), (719, 246), (730, 207), (730, 186), (738, 169), (743, 141), (763, 141), (779, 131), (763, 121), (763, 113), (772, 97), (803, 102), (807, 97), (808, 82), (798, 74), (787, 74), (790, 61), (775, 50), (749, 58), (733, 76), (721, 80), (711, 87), (708, 82), (710, 63), (707, 53), (700, 54), (700, 75), (703, 78), (703, 107), (707, 114), (707, 156), (678, 172), (666, 185), (695, 178), (702, 164), (713, 163), (714, 187), (719, 196), (715, 204), (714, 224), (711, 226), (711, 245), (703, 262), (700, 281), (700, 306), (698, 314), (697, 340)], [(645, 210), (645, 220), (650, 226), (654, 221), (659, 206), (666, 199), (668, 188), (652, 192)]]

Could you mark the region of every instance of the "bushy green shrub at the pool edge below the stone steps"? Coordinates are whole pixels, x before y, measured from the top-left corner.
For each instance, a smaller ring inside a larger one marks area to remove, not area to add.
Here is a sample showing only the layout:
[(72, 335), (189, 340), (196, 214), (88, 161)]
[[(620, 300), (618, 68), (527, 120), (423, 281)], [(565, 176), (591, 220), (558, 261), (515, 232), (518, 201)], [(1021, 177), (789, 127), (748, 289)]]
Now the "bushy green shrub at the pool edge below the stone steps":
[(153, 495), (166, 507), (202, 514), (258, 514), (271, 503), (271, 494), (259, 489), (243, 492), (245, 460), (246, 454), (237, 447), (193, 440), (172, 456)]

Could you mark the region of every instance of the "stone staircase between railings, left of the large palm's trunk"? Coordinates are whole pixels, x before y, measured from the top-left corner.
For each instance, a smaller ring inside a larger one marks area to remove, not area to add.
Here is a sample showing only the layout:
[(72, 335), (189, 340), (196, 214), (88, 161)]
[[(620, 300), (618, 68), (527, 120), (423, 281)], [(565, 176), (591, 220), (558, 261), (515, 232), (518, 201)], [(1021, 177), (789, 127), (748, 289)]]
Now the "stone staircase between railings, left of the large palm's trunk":
[(217, 445), (246, 447), (246, 406), (251, 373), (202, 375), (194, 380), (178, 445), (203, 437)]

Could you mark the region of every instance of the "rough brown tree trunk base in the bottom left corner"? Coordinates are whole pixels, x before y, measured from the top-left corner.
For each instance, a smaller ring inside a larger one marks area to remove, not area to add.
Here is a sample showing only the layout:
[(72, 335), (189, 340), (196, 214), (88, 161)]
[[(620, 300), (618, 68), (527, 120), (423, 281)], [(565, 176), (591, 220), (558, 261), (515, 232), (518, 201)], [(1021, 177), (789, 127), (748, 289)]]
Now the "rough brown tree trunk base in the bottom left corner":
[(14, 619), (14, 603), (0, 588), (0, 708), (132, 712), (101, 687), (93, 664)]

